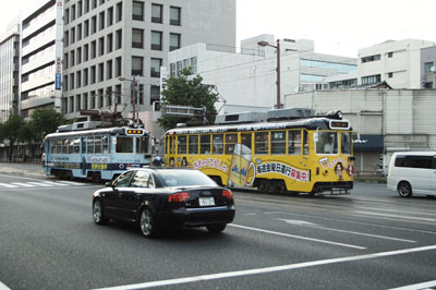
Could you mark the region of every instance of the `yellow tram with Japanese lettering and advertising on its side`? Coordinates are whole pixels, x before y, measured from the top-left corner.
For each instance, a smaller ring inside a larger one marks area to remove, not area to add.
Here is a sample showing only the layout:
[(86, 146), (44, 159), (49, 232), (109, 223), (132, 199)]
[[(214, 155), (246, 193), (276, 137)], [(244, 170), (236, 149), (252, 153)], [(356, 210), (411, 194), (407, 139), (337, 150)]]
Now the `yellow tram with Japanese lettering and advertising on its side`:
[(227, 186), (268, 192), (350, 193), (352, 150), (352, 128), (340, 111), (175, 128), (165, 136), (167, 167), (191, 167)]

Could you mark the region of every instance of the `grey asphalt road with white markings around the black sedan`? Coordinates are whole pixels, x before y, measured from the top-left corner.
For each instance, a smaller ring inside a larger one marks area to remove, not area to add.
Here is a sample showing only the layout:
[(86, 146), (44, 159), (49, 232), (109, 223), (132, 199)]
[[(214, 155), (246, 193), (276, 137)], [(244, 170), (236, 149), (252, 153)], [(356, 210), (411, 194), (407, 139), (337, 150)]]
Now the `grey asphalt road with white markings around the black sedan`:
[[(221, 234), (97, 226), (101, 185), (0, 174), (0, 289), (436, 289), (436, 200), (234, 192)], [(416, 286), (417, 285), (417, 286)]]

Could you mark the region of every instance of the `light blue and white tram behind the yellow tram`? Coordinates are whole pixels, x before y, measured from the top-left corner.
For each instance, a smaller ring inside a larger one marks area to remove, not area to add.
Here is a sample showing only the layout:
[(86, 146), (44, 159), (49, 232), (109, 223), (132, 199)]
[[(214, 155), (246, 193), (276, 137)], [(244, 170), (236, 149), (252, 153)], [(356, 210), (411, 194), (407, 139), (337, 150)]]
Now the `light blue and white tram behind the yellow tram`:
[[(78, 124), (78, 125), (77, 125)], [(141, 128), (60, 126), (44, 143), (44, 171), (59, 178), (113, 180), (128, 168), (152, 161), (152, 138)]]

